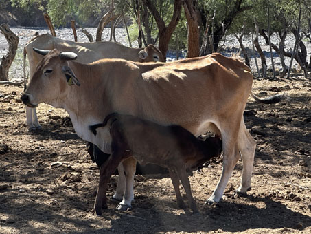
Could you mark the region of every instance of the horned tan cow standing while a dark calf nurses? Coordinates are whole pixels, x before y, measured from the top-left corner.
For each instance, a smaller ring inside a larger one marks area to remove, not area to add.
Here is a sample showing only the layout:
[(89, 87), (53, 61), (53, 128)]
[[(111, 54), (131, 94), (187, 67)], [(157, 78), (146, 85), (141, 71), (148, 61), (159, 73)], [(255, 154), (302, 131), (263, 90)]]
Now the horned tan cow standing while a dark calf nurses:
[[(256, 144), (245, 127), (243, 111), (253, 75), (244, 63), (221, 54), (172, 63), (104, 59), (86, 65), (71, 61), (76, 57), (59, 50), (47, 54), (30, 79), (23, 103), (64, 108), (76, 134), (105, 153), (111, 153), (108, 131), (94, 136), (88, 127), (112, 112), (181, 125), (194, 136), (214, 131), (222, 137), (224, 159), (220, 181), (208, 201), (222, 198), (240, 153), (243, 172), (237, 191), (246, 193), (251, 187)], [(130, 207), (134, 198), (135, 163), (133, 158), (123, 162), (126, 189), (119, 204), (122, 209)]]

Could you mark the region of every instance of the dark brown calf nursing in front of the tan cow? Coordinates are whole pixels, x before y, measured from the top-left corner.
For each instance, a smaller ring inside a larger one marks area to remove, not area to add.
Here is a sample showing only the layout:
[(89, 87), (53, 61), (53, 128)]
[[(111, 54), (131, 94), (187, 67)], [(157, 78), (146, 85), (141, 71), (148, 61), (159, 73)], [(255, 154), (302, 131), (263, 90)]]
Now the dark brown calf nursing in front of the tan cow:
[(181, 180), (190, 208), (194, 213), (198, 212), (186, 171), (193, 171), (210, 158), (219, 156), (222, 151), (220, 138), (198, 140), (181, 126), (163, 126), (121, 114), (109, 114), (103, 123), (91, 125), (89, 129), (96, 135), (96, 129), (106, 125), (110, 128), (112, 153), (100, 167), (100, 185), (95, 200), (97, 215), (101, 215), (102, 208), (107, 207), (106, 189), (111, 174), (120, 162), (131, 156), (141, 164), (148, 162), (168, 168), (178, 206), (185, 206), (179, 191)]

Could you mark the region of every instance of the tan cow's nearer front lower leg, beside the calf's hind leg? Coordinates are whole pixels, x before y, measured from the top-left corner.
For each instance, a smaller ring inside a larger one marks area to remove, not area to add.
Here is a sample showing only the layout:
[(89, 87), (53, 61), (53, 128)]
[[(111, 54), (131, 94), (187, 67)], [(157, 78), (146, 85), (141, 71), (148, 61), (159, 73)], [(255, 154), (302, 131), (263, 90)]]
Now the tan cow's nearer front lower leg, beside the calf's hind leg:
[(134, 176), (136, 171), (136, 159), (130, 157), (123, 162), (124, 173), (126, 178), (126, 186), (122, 202), (119, 203), (117, 209), (119, 211), (127, 211), (132, 208), (132, 201), (134, 200)]

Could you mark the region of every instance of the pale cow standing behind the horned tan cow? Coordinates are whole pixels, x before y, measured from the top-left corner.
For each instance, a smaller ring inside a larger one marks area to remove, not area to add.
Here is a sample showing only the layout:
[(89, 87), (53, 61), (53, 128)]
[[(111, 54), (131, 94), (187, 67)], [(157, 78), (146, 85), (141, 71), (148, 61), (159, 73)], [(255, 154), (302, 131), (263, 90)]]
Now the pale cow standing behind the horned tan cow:
[[(126, 60), (137, 62), (164, 62), (164, 58), (161, 52), (157, 49), (157, 47), (154, 47), (154, 45), (148, 45), (144, 49), (141, 49), (126, 47), (124, 45), (111, 41), (79, 43), (74, 41), (62, 40), (49, 34), (42, 34), (40, 36), (35, 36), (24, 47), (24, 65), (26, 54), (28, 54), (30, 77), (33, 76), (34, 71), (36, 70), (36, 65), (43, 58), (41, 54), (38, 54), (34, 52), (34, 50), (32, 50), (34, 47), (40, 48), (42, 50), (58, 49), (66, 52), (74, 52), (78, 54), (77, 61), (80, 63), (91, 63), (101, 58), (124, 58)], [(40, 127), (35, 108), (26, 107), (26, 118), (27, 126), (30, 129)]]

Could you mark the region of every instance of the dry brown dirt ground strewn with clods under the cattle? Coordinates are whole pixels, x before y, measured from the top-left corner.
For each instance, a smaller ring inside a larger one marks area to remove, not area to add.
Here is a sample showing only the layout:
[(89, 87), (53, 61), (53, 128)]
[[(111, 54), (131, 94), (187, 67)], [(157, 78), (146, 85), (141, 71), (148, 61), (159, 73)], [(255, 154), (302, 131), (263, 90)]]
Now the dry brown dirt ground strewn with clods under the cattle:
[[(244, 118), (257, 141), (252, 189), (235, 195), (240, 160), (223, 200), (204, 206), (221, 163), (190, 177), (200, 214), (178, 209), (170, 178), (137, 175), (133, 209), (108, 201), (93, 212), (99, 170), (67, 113), (41, 104), (41, 131), (28, 131), (22, 87), (0, 86), (0, 233), (311, 233), (311, 82), (301, 77), (255, 80), (260, 96), (290, 99), (262, 105), (249, 98)], [(117, 175), (111, 178), (113, 195)], [(184, 198), (185, 193), (183, 193)]]

